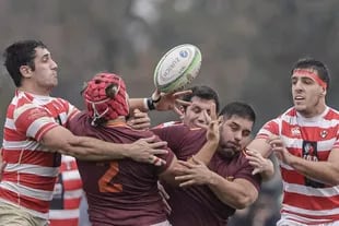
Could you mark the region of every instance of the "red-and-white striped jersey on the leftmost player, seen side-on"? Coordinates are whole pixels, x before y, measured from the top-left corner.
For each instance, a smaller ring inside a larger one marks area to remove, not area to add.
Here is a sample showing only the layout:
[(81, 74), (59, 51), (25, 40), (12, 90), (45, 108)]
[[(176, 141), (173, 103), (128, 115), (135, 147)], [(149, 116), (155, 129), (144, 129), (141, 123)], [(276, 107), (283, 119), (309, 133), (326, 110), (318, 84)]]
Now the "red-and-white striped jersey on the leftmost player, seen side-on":
[(77, 112), (65, 99), (15, 92), (4, 122), (2, 158), (8, 164), (0, 182), (1, 202), (48, 217), (61, 155), (39, 141), (50, 129), (66, 126)]

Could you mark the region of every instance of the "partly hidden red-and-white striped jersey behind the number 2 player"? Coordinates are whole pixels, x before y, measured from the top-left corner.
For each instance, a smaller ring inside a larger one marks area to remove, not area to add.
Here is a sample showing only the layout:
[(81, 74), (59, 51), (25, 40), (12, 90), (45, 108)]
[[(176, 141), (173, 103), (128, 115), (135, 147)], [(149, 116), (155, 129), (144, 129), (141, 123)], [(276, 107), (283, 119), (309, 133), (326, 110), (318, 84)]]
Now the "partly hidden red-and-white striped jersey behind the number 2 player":
[(49, 210), (50, 226), (78, 226), (82, 181), (74, 157), (62, 155), (60, 175)]

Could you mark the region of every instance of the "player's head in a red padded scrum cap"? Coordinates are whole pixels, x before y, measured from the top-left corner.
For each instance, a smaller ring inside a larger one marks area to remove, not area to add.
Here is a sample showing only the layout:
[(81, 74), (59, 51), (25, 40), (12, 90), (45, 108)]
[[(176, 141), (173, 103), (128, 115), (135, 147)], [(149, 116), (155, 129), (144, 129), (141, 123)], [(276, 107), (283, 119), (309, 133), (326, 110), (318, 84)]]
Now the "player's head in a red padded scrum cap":
[(128, 95), (124, 80), (113, 73), (98, 73), (82, 91), (92, 124), (104, 123), (129, 114)]

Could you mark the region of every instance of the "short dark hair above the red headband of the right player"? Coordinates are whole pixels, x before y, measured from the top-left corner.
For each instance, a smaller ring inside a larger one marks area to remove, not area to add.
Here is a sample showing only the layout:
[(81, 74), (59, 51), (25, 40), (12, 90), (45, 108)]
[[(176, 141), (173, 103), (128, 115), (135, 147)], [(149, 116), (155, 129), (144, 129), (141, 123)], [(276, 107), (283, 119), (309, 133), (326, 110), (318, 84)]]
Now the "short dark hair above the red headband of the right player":
[(327, 66), (319, 60), (315, 60), (313, 58), (303, 58), (297, 60), (294, 64), (291, 74), (295, 69), (314, 69), (317, 71), (318, 78), (327, 84), (327, 88), (329, 87), (330, 75), (327, 69)]

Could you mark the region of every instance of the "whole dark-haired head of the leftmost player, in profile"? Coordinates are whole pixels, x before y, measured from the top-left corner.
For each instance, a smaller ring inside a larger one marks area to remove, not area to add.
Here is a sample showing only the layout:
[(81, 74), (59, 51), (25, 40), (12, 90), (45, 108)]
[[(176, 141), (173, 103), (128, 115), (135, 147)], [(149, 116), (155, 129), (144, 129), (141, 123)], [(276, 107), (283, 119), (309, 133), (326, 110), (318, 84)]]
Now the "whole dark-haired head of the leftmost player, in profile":
[(57, 63), (40, 40), (22, 40), (10, 45), (3, 52), (4, 66), (16, 87), (23, 80), (36, 83), (37, 88), (51, 88), (58, 84)]

